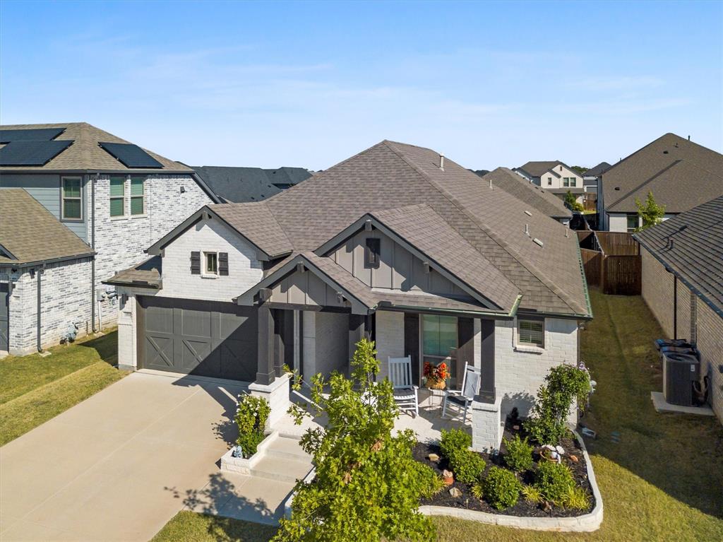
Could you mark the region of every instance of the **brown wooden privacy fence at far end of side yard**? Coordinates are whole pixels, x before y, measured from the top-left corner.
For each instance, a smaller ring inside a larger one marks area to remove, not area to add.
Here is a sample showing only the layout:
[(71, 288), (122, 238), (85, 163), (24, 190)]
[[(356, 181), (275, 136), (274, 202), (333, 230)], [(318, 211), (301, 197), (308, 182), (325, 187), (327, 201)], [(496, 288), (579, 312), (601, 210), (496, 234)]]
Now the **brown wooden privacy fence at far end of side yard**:
[(590, 286), (601, 287), (604, 294), (640, 294), (640, 245), (631, 234), (578, 232), (578, 242)]

